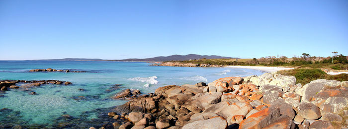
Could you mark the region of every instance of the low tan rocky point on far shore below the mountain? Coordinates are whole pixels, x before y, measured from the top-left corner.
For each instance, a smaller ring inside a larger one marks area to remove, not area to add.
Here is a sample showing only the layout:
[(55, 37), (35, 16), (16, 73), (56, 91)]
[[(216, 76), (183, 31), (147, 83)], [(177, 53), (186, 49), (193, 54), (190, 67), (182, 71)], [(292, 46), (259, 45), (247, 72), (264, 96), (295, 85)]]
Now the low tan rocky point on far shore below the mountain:
[(224, 65), (178, 63), (178, 62), (165, 62), (161, 64), (152, 64), (152, 65), (153, 66), (177, 66), (177, 67), (224, 67)]

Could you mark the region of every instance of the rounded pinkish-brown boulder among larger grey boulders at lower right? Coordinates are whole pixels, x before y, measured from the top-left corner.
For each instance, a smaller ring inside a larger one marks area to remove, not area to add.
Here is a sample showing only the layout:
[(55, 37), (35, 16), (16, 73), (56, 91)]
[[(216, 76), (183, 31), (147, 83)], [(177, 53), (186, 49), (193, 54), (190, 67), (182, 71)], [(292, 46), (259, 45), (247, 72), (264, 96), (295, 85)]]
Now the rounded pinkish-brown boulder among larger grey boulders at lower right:
[(301, 101), (298, 106), (298, 115), (308, 120), (316, 120), (321, 117), (319, 108), (308, 101)]

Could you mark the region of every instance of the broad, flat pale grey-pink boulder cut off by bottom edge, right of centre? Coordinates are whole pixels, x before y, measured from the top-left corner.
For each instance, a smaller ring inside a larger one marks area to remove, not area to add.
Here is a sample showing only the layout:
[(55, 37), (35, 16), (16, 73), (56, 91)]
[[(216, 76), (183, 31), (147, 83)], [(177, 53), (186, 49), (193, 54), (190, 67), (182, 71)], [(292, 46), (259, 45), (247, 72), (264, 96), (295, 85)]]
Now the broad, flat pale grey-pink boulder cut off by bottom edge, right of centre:
[(212, 117), (207, 120), (195, 121), (186, 124), (182, 129), (226, 129), (227, 121), (223, 117)]

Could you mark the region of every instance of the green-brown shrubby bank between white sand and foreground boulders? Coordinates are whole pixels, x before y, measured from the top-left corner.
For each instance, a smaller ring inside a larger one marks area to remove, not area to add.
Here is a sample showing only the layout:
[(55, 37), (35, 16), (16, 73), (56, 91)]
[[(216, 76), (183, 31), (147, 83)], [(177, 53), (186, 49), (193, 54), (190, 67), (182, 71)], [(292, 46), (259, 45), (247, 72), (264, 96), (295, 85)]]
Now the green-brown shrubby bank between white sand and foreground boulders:
[(296, 77), (296, 83), (302, 85), (316, 79), (329, 79), (338, 81), (348, 81), (348, 74), (330, 75), (318, 68), (295, 68), (291, 70), (278, 71), (280, 74), (292, 75)]

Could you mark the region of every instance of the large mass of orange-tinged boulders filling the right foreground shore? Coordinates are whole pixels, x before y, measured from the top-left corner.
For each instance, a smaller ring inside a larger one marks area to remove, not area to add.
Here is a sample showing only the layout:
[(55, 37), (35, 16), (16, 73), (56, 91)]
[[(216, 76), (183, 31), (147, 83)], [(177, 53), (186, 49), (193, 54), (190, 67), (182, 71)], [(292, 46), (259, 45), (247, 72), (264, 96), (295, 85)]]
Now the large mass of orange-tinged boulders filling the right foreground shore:
[[(99, 129), (334, 129), (348, 125), (348, 81), (225, 77), (168, 85), (108, 113)], [(95, 129), (91, 127), (89, 129)]]

